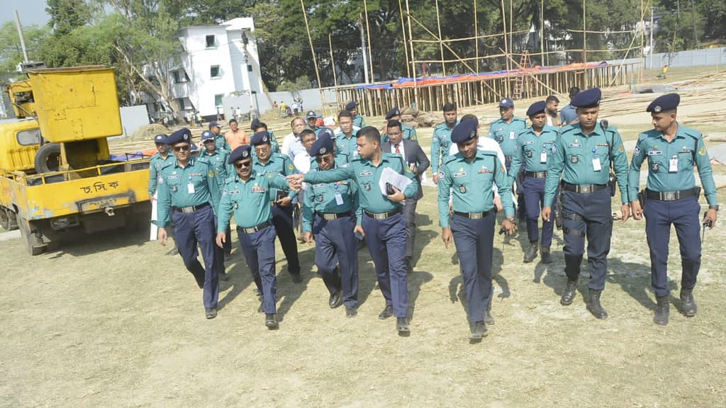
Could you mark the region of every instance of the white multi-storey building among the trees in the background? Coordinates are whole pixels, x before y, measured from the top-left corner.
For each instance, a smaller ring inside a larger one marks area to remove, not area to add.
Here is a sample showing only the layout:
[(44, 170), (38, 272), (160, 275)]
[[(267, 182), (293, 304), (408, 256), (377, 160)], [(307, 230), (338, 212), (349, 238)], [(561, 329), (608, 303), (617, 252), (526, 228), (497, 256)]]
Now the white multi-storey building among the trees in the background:
[[(247, 113), (256, 105), (256, 97), (264, 97), (254, 32), (251, 17), (179, 30), (183, 52), (168, 81), (172, 103), (184, 115), (198, 111), (205, 120), (218, 114), (229, 118), (233, 108)], [(225, 107), (225, 99), (231, 96), (237, 104)], [(145, 102), (155, 118), (159, 110), (165, 110), (163, 101)]]

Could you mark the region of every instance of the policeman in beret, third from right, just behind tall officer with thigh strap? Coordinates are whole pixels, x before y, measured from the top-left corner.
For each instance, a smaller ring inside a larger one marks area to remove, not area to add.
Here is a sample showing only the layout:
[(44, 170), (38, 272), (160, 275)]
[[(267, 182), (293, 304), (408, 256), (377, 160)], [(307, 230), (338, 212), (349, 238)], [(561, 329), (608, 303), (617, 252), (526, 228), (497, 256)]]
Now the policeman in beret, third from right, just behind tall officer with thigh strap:
[[(527, 264), (537, 258), (537, 243), (539, 241), (539, 208), (544, 202), (544, 181), (547, 178), (547, 159), (552, 152), (552, 145), (557, 139), (558, 129), (547, 126), (547, 103), (534, 102), (527, 110), (527, 116), (532, 126), (526, 128), (517, 136), (516, 152), (512, 158), (509, 180), (513, 183), (515, 174), (524, 168), (525, 208), (527, 210), (527, 237), (529, 247), (524, 253), (524, 262)], [(523, 166), (522, 166), (523, 164)], [(555, 200), (557, 195), (555, 194)], [(552, 245), (552, 220), (542, 223), (542, 264), (550, 264), (550, 245)]]

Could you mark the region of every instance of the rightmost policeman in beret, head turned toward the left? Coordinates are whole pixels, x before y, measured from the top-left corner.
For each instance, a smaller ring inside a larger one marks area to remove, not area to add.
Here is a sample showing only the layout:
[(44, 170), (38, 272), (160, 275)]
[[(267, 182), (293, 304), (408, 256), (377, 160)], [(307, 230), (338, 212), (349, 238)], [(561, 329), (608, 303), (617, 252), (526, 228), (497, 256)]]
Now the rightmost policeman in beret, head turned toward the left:
[[(653, 129), (638, 136), (633, 152), (628, 188), (633, 218), (645, 215), (645, 232), (650, 248), (650, 277), (656, 292), (656, 316), (653, 322), (667, 325), (668, 303), (668, 242), (671, 224), (675, 226), (682, 260), (680, 309), (687, 317), (696, 316), (698, 308), (693, 299), (698, 269), (701, 267), (701, 240), (698, 237), (698, 195), (693, 168), (698, 168), (709, 210), (703, 223), (713, 228), (719, 205), (711, 163), (703, 144), (701, 132), (681, 126), (676, 120), (678, 94), (666, 94), (648, 105)], [(643, 196), (645, 206), (635, 199), (640, 186), (640, 167), (648, 157), (648, 181)]]

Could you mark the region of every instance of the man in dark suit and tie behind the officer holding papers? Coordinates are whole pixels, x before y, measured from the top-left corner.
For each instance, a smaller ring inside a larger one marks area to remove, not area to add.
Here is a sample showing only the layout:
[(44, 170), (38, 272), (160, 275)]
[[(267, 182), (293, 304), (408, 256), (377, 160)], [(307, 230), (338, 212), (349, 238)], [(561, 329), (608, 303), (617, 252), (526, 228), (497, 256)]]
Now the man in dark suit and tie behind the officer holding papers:
[(418, 191), (415, 197), (404, 202), (404, 216), (406, 218), (406, 267), (410, 272), (412, 270), (411, 258), (413, 256), (413, 245), (416, 237), (416, 205), (418, 200), (423, 197), (423, 189), (421, 189), (421, 174), (424, 174), (431, 162), (421, 149), (421, 146), (415, 140), (403, 138), (403, 130), (401, 122), (388, 121), (386, 126), (388, 129), (388, 142), (381, 144), (381, 149), (386, 153), (394, 153), (401, 155), (404, 162), (416, 175), (418, 181)]

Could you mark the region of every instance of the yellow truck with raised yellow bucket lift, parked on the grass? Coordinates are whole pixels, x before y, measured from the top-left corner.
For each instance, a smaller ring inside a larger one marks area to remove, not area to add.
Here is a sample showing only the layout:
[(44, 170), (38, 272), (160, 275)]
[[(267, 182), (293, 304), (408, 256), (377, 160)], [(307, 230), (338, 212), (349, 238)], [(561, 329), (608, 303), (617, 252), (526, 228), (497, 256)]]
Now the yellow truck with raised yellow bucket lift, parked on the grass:
[(0, 122), (0, 225), (38, 255), (78, 232), (148, 225), (149, 159), (110, 155), (121, 135), (113, 68), (41, 68), (11, 83)]

